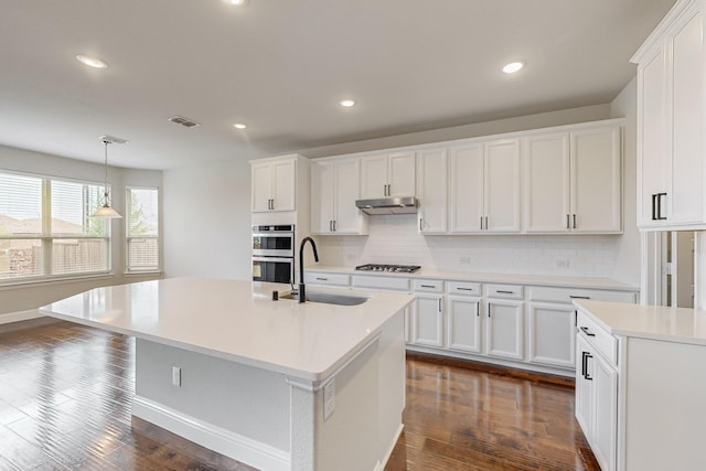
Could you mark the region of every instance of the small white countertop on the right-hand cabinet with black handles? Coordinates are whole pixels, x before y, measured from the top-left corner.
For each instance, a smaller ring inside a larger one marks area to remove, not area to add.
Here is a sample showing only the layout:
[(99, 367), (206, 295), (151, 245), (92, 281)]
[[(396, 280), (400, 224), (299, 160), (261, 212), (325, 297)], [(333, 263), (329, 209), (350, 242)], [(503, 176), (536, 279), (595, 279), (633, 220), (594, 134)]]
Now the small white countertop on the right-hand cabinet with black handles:
[(574, 300), (612, 335), (706, 345), (706, 311), (661, 306)]

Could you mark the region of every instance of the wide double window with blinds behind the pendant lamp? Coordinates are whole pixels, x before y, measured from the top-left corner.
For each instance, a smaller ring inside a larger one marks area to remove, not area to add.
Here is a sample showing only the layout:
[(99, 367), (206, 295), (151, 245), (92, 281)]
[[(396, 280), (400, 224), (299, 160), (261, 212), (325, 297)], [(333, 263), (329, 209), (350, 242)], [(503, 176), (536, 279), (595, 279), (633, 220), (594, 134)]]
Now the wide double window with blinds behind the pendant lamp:
[(110, 226), (89, 217), (103, 185), (0, 171), (0, 283), (104, 274)]

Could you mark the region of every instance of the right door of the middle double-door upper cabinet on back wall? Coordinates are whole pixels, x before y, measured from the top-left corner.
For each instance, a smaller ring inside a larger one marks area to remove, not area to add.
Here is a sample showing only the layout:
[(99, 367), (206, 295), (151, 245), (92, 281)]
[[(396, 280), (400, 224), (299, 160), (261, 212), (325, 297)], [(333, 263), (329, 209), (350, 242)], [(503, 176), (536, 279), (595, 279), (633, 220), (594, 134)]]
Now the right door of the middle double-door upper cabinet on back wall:
[(483, 152), (485, 229), (520, 232), (520, 141), (488, 142)]

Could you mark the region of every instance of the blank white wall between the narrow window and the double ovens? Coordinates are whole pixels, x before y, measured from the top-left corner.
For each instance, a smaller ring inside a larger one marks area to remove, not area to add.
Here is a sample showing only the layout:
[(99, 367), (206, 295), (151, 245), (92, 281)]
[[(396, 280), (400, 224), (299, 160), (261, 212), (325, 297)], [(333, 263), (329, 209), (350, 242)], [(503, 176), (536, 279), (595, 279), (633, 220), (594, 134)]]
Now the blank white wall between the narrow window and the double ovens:
[(250, 165), (164, 171), (164, 275), (250, 279)]

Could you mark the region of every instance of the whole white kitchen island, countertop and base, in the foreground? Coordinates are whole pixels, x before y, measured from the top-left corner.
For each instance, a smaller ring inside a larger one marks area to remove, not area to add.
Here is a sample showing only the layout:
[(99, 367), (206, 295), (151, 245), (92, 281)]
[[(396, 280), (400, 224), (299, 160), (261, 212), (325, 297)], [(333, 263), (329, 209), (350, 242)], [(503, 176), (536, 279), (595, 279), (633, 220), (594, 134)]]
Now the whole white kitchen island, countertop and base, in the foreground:
[(173, 278), (40, 312), (136, 338), (132, 415), (264, 470), (382, 469), (402, 431), (409, 295), (272, 300), (289, 286)]

